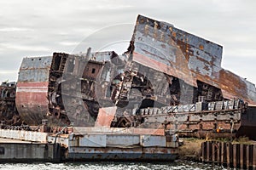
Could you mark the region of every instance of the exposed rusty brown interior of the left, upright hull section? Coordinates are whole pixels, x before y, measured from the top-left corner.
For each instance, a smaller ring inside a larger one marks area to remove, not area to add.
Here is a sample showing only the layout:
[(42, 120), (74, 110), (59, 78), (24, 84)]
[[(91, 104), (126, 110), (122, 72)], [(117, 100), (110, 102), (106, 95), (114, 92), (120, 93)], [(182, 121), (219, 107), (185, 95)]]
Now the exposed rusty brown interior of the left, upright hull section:
[(49, 112), (74, 126), (94, 126), (99, 107), (113, 105), (109, 87), (121, 62), (114, 52), (57, 54), (49, 76)]

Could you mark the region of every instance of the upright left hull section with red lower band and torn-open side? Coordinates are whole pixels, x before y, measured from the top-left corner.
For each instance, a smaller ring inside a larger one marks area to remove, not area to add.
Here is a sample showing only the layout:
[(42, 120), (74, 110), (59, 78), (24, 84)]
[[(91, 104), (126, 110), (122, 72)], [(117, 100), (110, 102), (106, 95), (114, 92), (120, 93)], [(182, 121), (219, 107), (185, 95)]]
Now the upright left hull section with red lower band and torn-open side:
[(16, 97), (22, 120), (94, 126), (100, 105), (113, 105), (109, 88), (122, 62), (114, 52), (23, 59)]

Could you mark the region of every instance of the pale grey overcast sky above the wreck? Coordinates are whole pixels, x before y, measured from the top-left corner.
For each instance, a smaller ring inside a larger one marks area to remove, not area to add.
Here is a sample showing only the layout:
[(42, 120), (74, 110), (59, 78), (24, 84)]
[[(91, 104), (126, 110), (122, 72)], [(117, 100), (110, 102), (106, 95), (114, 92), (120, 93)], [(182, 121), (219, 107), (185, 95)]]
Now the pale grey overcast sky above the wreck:
[(120, 54), (143, 14), (222, 45), (224, 69), (256, 83), (255, 0), (0, 0), (0, 8), (0, 81), (16, 81), (26, 56), (87, 46)]

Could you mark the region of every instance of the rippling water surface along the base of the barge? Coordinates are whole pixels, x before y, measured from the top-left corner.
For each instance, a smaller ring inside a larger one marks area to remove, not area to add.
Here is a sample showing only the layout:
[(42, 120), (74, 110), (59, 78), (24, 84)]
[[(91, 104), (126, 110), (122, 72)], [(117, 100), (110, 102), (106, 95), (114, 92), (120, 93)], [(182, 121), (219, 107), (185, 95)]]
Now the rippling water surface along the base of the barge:
[[(67, 162), (67, 163), (2, 163), (0, 164), (0, 169), (20, 169), (20, 170), (31, 170), (31, 169), (89, 169), (89, 170), (151, 170), (151, 169), (186, 169), (186, 170), (205, 170), (205, 169), (227, 169), (212, 164), (195, 163), (193, 161), (175, 161), (172, 163), (166, 162), (114, 162), (114, 161), (104, 161), (104, 162)], [(230, 168), (229, 168), (230, 169)]]

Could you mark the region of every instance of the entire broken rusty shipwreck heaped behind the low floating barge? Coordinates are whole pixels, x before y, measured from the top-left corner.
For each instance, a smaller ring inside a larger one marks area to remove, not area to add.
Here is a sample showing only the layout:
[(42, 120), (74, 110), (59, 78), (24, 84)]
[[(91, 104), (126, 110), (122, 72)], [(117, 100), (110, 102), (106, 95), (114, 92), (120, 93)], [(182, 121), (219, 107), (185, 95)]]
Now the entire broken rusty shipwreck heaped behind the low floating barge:
[(89, 48), (24, 58), (18, 82), (0, 88), (1, 119), (255, 139), (255, 85), (224, 70), (222, 52), (214, 42), (139, 15), (124, 54)]

